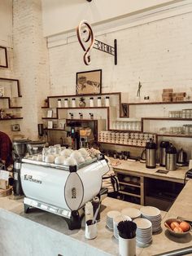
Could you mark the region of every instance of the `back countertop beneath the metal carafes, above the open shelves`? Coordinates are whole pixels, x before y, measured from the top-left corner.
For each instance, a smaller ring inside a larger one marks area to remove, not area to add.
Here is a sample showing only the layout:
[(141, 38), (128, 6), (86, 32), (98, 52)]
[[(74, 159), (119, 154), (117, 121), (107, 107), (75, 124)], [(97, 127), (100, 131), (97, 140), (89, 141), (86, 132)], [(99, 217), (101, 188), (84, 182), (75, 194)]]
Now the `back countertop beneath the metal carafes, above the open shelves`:
[[(111, 158), (111, 163), (114, 163), (114, 159)], [(165, 179), (171, 180), (178, 183), (183, 183), (185, 179), (185, 173), (189, 170), (188, 166), (185, 167), (177, 167), (177, 170), (169, 170), (167, 174), (157, 173), (157, 170), (165, 170), (162, 166), (156, 166), (155, 169), (146, 168), (146, 164), (140, 163), (139, 161), (125, 161), (120, 160), (118, 166), (113, 166), (114, 170), (123, 171), (127, 174), (139, 174), (141, 176), (157, 178), (157, 179)]]

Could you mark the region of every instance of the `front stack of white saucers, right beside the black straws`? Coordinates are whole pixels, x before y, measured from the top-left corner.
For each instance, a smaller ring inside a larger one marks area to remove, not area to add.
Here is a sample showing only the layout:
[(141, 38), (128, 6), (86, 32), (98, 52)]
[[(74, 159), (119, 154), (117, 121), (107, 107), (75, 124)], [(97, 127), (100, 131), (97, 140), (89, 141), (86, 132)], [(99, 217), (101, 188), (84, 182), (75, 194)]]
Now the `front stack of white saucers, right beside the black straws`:
[(133, 220), (137, 224), (136, 242), (139, 247), (147, 247), (152, 242), (152, 224), (146, 218), (136, 218)]

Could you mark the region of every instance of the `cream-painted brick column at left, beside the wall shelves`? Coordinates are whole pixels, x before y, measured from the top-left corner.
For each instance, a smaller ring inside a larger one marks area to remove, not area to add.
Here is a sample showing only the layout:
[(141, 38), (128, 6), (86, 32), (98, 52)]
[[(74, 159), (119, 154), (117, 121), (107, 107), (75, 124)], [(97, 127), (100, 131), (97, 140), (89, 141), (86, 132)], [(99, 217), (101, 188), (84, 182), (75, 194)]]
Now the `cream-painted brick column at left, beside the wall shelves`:
[(49, 95), (46, 39), (42, 37), (41, 1), (13, 1), (14, 75), (20, 79), (24, 121), (21, 133), (37, 139), (41, 106)]

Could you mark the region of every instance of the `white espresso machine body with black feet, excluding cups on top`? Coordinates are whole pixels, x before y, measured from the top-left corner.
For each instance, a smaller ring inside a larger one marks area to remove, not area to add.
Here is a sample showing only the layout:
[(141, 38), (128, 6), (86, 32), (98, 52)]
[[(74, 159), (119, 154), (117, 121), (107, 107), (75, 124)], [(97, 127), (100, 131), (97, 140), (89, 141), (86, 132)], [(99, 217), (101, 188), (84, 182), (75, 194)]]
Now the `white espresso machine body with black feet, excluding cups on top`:
[[(103, 193), (102, 177), (109, 170), (103, 155), (77, 166), (22, 159), (20, 179), (24, 212), (35, 207), (65, 218), (69, 229), (81, 228), (83, 207)], [(107, 189), (104, 190), (107, 195)]]

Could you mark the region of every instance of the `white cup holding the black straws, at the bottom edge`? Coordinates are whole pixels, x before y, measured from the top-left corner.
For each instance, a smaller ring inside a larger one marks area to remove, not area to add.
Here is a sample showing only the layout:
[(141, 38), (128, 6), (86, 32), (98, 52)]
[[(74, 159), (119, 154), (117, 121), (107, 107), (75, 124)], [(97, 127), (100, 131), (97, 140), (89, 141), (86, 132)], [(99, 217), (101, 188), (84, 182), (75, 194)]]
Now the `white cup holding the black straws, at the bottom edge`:
[(136, 237), (125, 239), (119, 236), (119, 254), (120, 256), (136, 255)]

